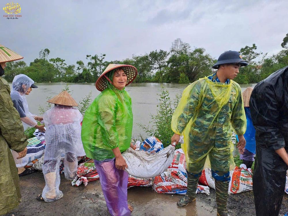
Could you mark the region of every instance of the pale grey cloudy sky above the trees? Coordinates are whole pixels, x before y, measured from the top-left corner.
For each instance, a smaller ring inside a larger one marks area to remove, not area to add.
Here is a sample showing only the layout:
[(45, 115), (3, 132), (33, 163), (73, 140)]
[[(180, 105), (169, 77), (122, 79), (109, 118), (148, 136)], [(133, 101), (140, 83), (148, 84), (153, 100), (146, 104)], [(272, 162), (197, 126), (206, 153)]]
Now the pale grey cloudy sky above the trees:
[[(1, 1), (5, 7), (9, 0)], [(133, 54), (169, 50), (176, 38), (218, 58), (226, 50), (256, 43), (272, 55), (288, 33), (288, 1), (36, 1), (15, 0), (19, 19), (1, 9), (0, 44), (29, 64), (44, 48), (67, 64), (86, 54), (123, 60)]]

